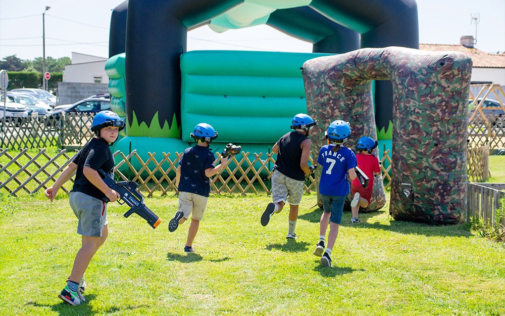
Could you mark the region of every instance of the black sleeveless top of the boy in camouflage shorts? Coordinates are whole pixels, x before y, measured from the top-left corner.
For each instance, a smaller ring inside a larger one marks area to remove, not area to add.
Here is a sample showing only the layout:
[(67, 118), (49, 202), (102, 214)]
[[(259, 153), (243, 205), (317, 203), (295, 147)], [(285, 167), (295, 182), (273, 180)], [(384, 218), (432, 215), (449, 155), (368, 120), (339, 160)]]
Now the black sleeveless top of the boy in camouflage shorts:
[(277, 142), (279, 152), (274, 168), (295, 180), (305, 180), (304, 170), (300, 168), (301, 143), (307, 139), (304, 134), (288, 132)]

